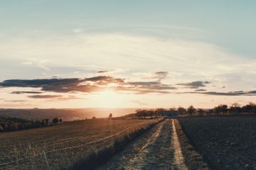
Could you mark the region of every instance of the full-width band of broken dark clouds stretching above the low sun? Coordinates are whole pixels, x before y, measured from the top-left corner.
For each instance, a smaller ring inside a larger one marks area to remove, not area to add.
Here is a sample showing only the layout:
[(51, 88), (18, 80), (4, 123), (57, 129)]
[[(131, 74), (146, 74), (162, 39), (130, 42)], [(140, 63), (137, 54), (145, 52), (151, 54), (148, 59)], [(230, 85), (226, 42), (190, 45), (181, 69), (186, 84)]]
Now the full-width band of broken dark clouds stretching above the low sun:
[[(166, 72), (156, 72), (156, 74), (166, 74)], [(114, 84), (114, 85), (113, 85)], [(256, 91), (230, 91), (216, 92), (199, 89), (210, 84), (209, 81), (192, 81), (190, 83), (177, 84), (183, 86), (183, 89), (196, 89), (191, 92), (182, 92), (175, 94), (205, 94), (213, 96), (256, 96)], [(98, 76), (85, 79), (10, 79), (0, 83), (1, 88), (6, 87), (32, 87), (41, 88), (41, 91), (14, 91), (11, 94), (42, 94), (43, 92), (55, 93), (92, 93), (103, 90), (127, 91), (135, 94), (171, 94), (171, 90), (176, 90), (176, 86), (171, 84), (162, 84), (157, 81), (125, 81), (125, 79), (114, 78), (110, 76)], [(59, 95), (33, 95), (29, 98), (61, 98)]]

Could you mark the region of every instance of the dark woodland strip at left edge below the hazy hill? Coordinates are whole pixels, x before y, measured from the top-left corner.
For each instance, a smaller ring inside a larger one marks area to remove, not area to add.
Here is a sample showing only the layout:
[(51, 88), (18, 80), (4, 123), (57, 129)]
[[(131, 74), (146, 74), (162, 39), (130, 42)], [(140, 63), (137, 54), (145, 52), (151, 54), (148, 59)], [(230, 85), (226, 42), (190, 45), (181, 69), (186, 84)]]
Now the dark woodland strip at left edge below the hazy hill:
[(63, 122), (62, 119), (53, 118), (43, 120), (24, 120), (20, 118), (0, 118), (0, 132), (12, 132), (32, 128), (43, 128)]

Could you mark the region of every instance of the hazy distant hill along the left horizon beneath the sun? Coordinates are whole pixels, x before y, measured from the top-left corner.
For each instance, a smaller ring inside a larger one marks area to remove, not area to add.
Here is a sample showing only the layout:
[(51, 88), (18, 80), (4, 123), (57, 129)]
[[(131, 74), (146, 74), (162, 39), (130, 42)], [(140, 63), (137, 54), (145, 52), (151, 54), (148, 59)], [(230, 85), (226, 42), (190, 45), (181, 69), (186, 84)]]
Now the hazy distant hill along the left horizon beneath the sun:
[(80, 120), (86, 118), (107, 118), (110, 113), (113, 117), (134, 113), (136, 108), (50, 108), (50, 109), (11, 109), (0, 108), (0, 117), (21, 118), (26, 120), (53, 119)]

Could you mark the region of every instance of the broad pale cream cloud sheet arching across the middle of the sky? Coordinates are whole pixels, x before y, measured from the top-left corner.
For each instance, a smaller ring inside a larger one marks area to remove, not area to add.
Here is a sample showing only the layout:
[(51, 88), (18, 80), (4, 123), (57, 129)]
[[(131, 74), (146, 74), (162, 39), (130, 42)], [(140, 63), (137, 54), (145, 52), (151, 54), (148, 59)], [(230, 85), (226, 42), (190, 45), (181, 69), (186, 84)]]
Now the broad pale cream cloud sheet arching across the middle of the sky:
[[(52, 67), (104, 68), (102, 71), (105, 71), (105, 68), (122, 68), (132, 70), (129, 71), (131, 73), (161, 69), (165, 72), (178, 73), (171, 74), (176, 83), (202, 77), (209, 81), (225, 81), (230, 74), (247, 73), (250, 74), (248, 77), (255, 75), (255, 60), (235, 55), (208, 42), (124, 33), (82, 33), (73, 36), (53, 36), (47, 40), (10, 38), (7, 41), (0, 42), (3, 55), (14, 60), (18, 53), (21, 55), (18, 58), (23, 60), (23, 64), (46, 67), (49, 72)], [(110, 62), (110, 57), (114, 62)], [(28, 72), (31, 69), (26, 68)], [(65, 70), (67, 69), (58, 70), (58, 74)], [(239, 79), (242, 84), (248, 78)], [(225, 86), (229, 84), (233, 82), (228, 82)], [(242, 86), (248, 85), (243, 83)]]

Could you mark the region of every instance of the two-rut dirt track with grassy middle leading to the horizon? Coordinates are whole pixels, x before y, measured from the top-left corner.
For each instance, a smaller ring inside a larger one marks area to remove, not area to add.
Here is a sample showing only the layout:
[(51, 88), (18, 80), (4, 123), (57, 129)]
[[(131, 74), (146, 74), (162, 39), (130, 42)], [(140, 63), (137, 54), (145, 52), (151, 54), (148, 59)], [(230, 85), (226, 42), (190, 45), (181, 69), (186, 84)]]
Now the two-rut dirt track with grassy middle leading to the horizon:
[(172, 120), (164, 120), (98, 169), (187, 168)]

